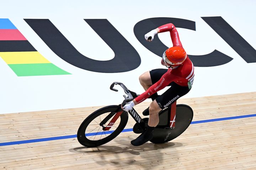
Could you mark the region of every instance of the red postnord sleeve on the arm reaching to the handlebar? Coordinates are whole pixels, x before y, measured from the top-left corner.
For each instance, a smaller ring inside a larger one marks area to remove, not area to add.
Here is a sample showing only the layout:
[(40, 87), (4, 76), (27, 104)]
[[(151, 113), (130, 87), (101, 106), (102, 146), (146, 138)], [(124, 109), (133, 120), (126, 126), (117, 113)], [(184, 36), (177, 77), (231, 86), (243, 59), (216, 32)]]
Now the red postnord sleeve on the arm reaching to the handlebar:
[(135, 98), (135, 101), (139, 104), (149, 98), (154, 93), (158, 92), (159, 90), (164, 89), (167, 85), (169, 85), (172, 81), (175, 80), (175, 76), (171, 74), (170, 71), (167, 71), (164, 75), (162, 75), (161, 79), (158, 80), (155, 84), (149, 87), (143, 94), (139, 95)]

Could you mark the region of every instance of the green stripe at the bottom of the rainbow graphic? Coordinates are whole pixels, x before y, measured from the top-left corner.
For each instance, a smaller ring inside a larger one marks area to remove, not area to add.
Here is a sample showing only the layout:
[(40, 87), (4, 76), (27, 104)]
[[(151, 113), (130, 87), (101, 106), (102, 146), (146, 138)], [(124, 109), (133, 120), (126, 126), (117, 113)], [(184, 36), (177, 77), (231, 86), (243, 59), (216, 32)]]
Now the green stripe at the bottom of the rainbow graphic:
[(52, 63), (8, 64), (17, 76), (70, 74)]

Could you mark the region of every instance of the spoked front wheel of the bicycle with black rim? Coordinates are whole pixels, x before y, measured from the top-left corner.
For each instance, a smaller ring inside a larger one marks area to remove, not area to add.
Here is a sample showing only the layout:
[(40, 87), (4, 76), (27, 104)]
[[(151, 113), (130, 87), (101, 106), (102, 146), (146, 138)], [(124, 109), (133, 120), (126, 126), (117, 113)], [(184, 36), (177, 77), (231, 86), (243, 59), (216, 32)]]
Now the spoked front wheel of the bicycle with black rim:
[[(101, 121), (107, 117), (107, 115), (117, 113), (120, 110), (120, 106), (112, 105), (106, 106), (90, 114), (80, 125), (77, 133), (77, 138), (81, 145), (86, 147), (96, 147), (103, 145), (113, 140), (119, 135), (128, 121), (128, 113), (124, 112), (116, 120), (115, 124), (109, 131), (103, 131), (100, 126)], [(103, 126), (107, 126), (112, 120), (113, 116), (109, 117), (107, 122)]]

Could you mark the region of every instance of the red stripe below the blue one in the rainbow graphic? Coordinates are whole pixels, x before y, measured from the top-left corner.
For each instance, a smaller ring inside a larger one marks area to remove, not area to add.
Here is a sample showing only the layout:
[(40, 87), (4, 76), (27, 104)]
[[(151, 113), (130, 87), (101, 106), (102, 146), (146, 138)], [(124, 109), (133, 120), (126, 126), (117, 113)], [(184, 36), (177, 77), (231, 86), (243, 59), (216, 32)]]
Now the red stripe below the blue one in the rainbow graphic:
[(0, 40), (27, 40), (17, 29), (0, 29)]

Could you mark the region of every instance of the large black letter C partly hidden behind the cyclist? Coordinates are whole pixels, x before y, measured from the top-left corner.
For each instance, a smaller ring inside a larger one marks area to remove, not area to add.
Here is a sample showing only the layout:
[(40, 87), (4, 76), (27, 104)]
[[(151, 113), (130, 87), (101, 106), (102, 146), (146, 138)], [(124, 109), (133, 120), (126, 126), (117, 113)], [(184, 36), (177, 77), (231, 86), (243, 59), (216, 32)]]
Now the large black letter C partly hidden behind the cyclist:
[[(180, 19), (180, 18), (148, 18), (135, 24), (133, 29), (134, 34), (136, 38), (140, 41), (140, 43), (143, 46), (145, 46), (148, 50), (158, 55), (159, 57), (162, 57), (162, 53), (168, 47), (160, 41), (160, 39), (158, 38), (158, 35), (155, 35), (154, 40), (152, 42), (146, 41), (144, 38), (144, 35), (149, 31), (151, 31), (152, 29), (155, 29), (166, 23), (173, 23), (177, 28), (186, 28), (194, 31), (196, 30), (196, 23), (194, 21), (190, 21), (187, 19)], [(170, 41), (171, 41), (171, 38), (170, 38)], [(194, 66), (197, 66), (197, 67), (219, 66), (233, 60), (233, 58), (217, 50), (214, 50), (213, 52), (206, 55), (201, 55), (201, 56), (189, 55), (189, 57), (192, 60)]]

